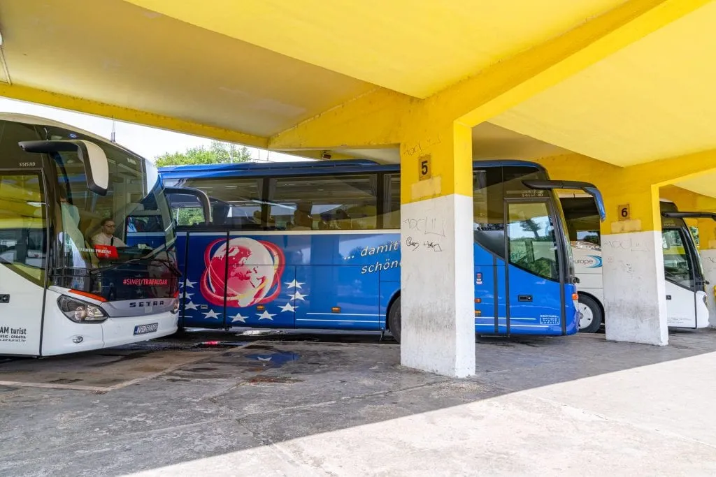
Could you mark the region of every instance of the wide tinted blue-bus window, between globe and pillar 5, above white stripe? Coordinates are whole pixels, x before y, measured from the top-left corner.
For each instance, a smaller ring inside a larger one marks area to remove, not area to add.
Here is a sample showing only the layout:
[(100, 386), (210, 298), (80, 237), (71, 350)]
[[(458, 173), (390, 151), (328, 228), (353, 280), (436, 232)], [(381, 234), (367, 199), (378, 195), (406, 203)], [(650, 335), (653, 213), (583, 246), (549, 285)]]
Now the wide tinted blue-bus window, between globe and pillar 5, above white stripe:
[(377, 228), (377, 175), (281, 177), (269, 181), (269, 227)]

